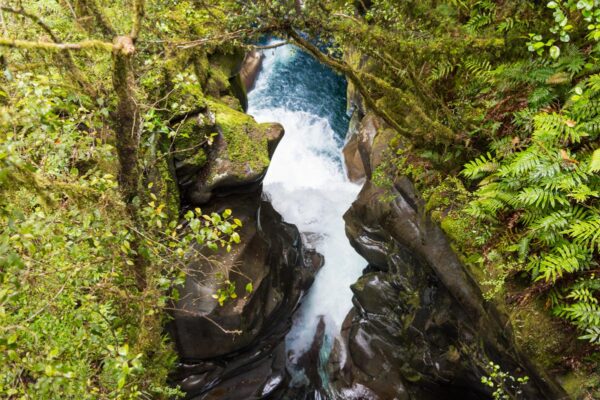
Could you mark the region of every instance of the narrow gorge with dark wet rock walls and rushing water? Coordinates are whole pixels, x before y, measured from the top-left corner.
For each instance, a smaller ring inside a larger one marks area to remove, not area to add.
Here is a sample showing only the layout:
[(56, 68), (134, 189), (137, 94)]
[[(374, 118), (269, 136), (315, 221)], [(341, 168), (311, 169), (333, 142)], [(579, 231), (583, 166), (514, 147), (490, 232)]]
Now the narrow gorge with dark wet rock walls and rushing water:
[(188, 273), (172, 325), (189, 398), (476, 400), (491, 395), (490, 362), (530, 379), (523, 398), (566, 398), (516, 349), (410, 181), (372, 183), (391, 131), (342, 77), (276, 43), (230, 78), (252, 89), (271, 161), (232, 171), (217, 111), (217, 153), (184, 190), (241, 216), (243, 244), (220, 262), (237, 287), (254, 283), (221, 307), (216, 283)]

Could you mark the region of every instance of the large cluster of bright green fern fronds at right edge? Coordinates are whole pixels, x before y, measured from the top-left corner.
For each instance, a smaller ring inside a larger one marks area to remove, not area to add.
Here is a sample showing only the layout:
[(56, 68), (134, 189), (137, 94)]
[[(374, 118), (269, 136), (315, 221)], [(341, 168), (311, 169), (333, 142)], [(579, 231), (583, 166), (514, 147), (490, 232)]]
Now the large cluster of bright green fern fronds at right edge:
[(573, 51), (553, 67), (513, 64), (490, 71), (541, 86), (531, 92), (530, 106), (515, 113), (520, 147), (496, 140), (489, 146), (493, 155), (470, 161), (461, 174), (479, 180), (466, 212), (498, 230), (506, 229), (510, 216), (516, 232), (496, 246), (516, 257), (513, 262), (527, 263), (533, 281), (550, 283), (556, 315), (577, 326), (582, 339), (599, 343), (600, 282), (590, 269), (600, 259), (600, 74), (579, 82), (559, 112), (532, 111), (552, 101), (555, 92), (543, 86), (552, 74), (579, 73), (580, 64), (581, 54)]

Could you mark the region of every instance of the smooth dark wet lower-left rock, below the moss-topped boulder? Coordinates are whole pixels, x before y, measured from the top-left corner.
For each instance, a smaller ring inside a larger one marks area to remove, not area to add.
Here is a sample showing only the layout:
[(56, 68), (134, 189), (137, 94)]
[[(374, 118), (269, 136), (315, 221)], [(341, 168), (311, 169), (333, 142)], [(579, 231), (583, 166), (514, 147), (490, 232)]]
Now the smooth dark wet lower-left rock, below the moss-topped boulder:
[[(266, 398), (286, 386), (283, 339), (322, 258), (304, 248), (296, 227), (283, 222), (260, 191), (221, 198), (203, 210), (225, 208), (242, 220), (242, 242), (230, 253), (206, 253), (218, 264), (199, 259), (187, 268), (169, 327), (182, 363), (174, 380), (190, 398)], [(217, 271), (239, 296), (223, 306), (211, 297), (223, 281)]]

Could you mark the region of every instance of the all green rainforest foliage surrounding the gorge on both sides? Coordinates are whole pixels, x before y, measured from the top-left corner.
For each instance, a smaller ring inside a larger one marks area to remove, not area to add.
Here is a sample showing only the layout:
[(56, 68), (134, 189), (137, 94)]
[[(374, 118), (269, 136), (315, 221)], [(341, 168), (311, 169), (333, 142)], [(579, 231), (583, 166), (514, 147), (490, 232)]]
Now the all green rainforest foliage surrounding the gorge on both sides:
[(206, 162), (186, 122), (241, 110), (226, 61), (264, 34), (346, 75), (397, 133), (373, 179), (410, 175), (489, 297), (541, 301), (585, 345), (570, 367), (593, 365), (599, 3), (3, 2), (0, 397), (176, 394), (169, 288), (240, 223), (181, 209), (173, 157)]

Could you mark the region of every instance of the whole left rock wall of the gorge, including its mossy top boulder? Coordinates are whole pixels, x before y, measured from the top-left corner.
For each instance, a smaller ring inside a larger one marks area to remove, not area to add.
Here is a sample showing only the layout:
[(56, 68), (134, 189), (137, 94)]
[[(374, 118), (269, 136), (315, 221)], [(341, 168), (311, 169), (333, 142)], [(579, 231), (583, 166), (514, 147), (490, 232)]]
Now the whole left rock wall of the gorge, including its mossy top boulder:
[[(231, 209), (243, 226), (241, 243), (229, 253), (203, 250), (186, 267), (168, 326), (180, 358), (172, 381), (190, 399), (277, 398), (289, 381), (283, 339), (323, 264), (298, 229), (262, 199), (262, 179), (283, 128), (257, 124), (217, 102), (186, 124), (185, 137), (175, 142), (184, 205), (202, 206), (205, 214)], [(204, 156), (185, 150), (211, 133), (217, 136)], [(226, 279), (238, 297), (221, 306), (212, 295)]]

